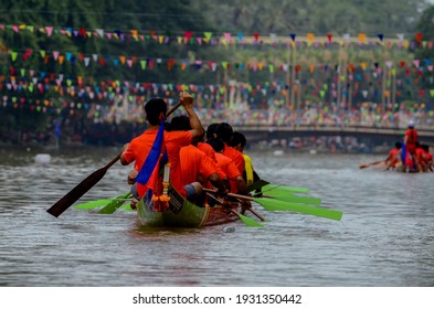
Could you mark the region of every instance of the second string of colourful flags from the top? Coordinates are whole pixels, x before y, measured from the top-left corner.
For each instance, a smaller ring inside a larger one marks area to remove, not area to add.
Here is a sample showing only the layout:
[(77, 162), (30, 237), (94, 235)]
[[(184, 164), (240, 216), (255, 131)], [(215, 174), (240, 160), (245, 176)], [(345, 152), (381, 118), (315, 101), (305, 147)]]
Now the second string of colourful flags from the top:
[[(129, 68), (139, 67), (140, 70), (152, 70), (152, 68), (167, 68), (168, 71), (172, 70), (174, 66), (179, 67), (181, 71), (187, 68), (193, 68), (197, 71), (208, 70), (215, 72), (219, 67), (223, 70), (248, 70), (248, 71), (263, 71), (268, 70), (269, 73), (274, 73), (275, 71), (287, 72), (289, 68), (289, 64), (285, 62), (269, 62), (269, 61), (247, 61), (247, 62), (230, 62), (230, 61), (208, 61), (208, 60), (189, 60), (189, 58), (163, 58), (163, 57), (150, 57), (150, 56), (125, 56), (125, 55), (104, 55), (104, 54), (85, 54), (85, 53), (72, 53), (72, 52), (61, 52), (61, 51), (46, 51), (39, 50), (34, 51), (32, 49), (25, 49), (25, 51), (17, 51), (17, 50), (7, 50), (6, 47), (0, 49), (0, 55), (9, 55), (12, 64), (14, 63), (25, 63), (31, 60), (40, 60), (43, 63), (47, 64), (50, 62), (59, 63), (60, 65), (64, 63), (71, 63), (72, 65), (76, 65), (77, 62), (82, 63), (85, 67), (97, 65), (115, 65), (115, 66), (126, 66)], [(416, 67), (420, 71), (428, 71), (432, 72), (434, 66), (431, 58), (415, 58), (413, 61), (401, 60), (401, 61), (392, 61), (388, 60), (383, 62), (388, 70), (393, 70), (394, 67), (403, 68), (411, 66)], [(328, 70), (339, 70), (341, 66), (332, 65), (332, 64), (316, 64), (315, 61), (299, 61), (299, 63), (295, 64), (296, 72), (305, 70), (310, 71), (311, 73), (316, 70), (328, 71)], [(382, 63), (375, 61), (361, 61), (360, 63), (350, 63), (348, 64), (348, 71), (354, 72), (357, 68), (361, 68), (366, 71), (367, 68), (374, 68), (379, 71), (381, 74)], [(394, 73), (392, 73), (394, 74)]]

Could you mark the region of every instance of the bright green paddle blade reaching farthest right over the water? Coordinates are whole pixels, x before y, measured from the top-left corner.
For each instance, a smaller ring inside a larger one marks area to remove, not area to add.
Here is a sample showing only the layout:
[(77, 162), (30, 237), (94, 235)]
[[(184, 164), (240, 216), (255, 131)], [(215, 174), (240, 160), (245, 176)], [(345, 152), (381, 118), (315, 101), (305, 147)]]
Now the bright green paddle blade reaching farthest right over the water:
[(264, 198), (254, 199), (254, 201), (260, 205), (262, 205), (267, 211), (277, 211), (277, 212), (293, 211), (293, 212), (299, 212), (304, 214), (310, 214), (310, 215), (327, 217), (337, 221), (340, 221), (342, 217), (342, 212), (328, 210), (328, 209), (314, 207), (314, 206), (296, 204), (296, 203), (287, 203), (283, 201), (276, 201), (276, 200), (264, 199)]

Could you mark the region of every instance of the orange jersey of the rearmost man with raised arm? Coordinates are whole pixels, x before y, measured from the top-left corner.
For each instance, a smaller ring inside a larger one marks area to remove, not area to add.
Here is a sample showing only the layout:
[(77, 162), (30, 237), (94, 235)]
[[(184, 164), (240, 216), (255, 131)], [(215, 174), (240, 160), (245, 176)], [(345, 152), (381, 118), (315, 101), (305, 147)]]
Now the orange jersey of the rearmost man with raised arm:
[[(124, 159), (128, 163), (135, 161), (135, 168), (138, 171), (140, 171), (152, 148), (157, 132), (158, 130), (146, 130), (142, 135), (134, 138), (130, 141), (128, 149), (124, 152)], [(182, 195), (186, 195), (186, 190), (181, 183), (179, 151), (181, 147), (190, 145), (192, 138), (193, 136), (189, 131), (165, 131), (165, 145), (170, 162), (170, 182)], [(146, 185), (137, 183), (137, 192), (140, 196), (144, 196), (146, 191)]]

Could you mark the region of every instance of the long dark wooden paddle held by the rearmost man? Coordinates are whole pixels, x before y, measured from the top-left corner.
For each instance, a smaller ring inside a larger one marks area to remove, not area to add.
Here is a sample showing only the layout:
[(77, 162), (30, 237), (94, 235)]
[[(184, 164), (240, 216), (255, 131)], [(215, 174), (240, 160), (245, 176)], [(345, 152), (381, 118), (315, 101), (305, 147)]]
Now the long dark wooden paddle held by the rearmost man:
[[(169, 117), (179, 106), (181, 102), (178, 102), (166, 114)], [(80, 198), (82, 198), (87, 191), (89, 191), (99, 180), (103, 179), (107, 170), (119, 160), (124, 151), (119, 152), (112, 161), (109, 161), (104, 168), (93, 172), (81, 183), (78, 183), (73, 190), (66, 193), (65, 196), (60, 199), (54, 205), (52, 205), (46, 212), (53, 216), (60, 216), (64, 211), (66, 211), (72, 204), (74, 204)]]

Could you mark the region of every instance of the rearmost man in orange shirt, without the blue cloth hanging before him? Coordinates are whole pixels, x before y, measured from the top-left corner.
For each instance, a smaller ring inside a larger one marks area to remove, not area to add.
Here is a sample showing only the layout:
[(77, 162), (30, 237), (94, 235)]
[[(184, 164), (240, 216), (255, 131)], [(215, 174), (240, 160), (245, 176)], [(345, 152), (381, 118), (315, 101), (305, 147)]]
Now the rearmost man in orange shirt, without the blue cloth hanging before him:
[[(187, 114), (189, 115), (190, 126), (192, 129), (190, 131), (165, 131), (161, 152), (158, 153), (158, 156), (159, 158), (163, 157), (163, 152), (167, 150), (167, 157), (170, 162), (170, 182), (180, 194), (187, 196), (186, 189), (183, 188), (181, 181), (179, 151), (181, 147), (190, 145), (193, 138), (198, 138), (203, 135), (203, 129), (198, 116), (194, 113), (193, 99), (191, 95), (187, 92), (181, 92), (179, 98)], [(157, 135), (159, 132), (160, 126), (162, 125), (162, 119), (166, 117), (167, 104), (162, 98), (151, 98), (145, 105), (145, 113), (146, 120), (148, 122), (147, 130), (145, 130), (145, 132), (140, 136), (134, 138), (129, 143), (125, 145), (124, 152), (120, 156), (120, 162), (124, 166), (127, 166), (133, 161), (135, 162), (134, 170), (136, 170), (136, 172), (139, 171), (139, 175), (141, 168), (148, 159), (148, 154), (152, 152), (152, 146), (155, 146)], [(135, 181), (136, 172), (130, 172), (128, 175), (129, 182)], [(155, 168), (154, 172), (151, 172), (152, 175), (155, 175), (155, 173), (158, 172), (158, 168)], [(152, 192), (150, 192), (149, 189), (151, 188), (148, 184), (136, 182), (131, 187), (131, 193), (137, 200), (144, 198), (146, 193), (148, 193), (148, 198), (150, 198), (149, 195), (151, 195)]]

